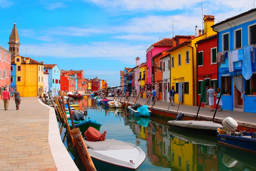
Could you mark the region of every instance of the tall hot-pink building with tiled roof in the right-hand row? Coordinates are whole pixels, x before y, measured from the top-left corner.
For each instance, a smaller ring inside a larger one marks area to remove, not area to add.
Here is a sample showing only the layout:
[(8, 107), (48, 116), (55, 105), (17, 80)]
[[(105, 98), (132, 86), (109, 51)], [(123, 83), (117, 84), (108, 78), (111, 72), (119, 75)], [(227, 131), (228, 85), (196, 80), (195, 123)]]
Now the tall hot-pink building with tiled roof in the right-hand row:
[(154, 55), (157, 55), (160, 52), (163, 52), (164, 50), (170, 49), (173, 47), (173, 41), (172, 38), (164, 38), (161, 41), (158, 41), (157, 43), (152, 44), (147, 50), (146, 50), (146, 60), (147, 60), (147, 88), (151, 90), (152, 81), (154, 83), (154, 76), (152, 76), (152, 57)]

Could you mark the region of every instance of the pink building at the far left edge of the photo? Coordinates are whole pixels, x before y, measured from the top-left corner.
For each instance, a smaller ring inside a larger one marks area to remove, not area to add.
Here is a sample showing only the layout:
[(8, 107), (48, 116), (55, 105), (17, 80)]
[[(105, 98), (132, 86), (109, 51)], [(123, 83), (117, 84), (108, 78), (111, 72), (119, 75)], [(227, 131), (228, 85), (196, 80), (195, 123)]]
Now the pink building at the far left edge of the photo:
[(4, 87), (11, 90), (11, 55), (12, 52), (0, 46), (0, 94)]

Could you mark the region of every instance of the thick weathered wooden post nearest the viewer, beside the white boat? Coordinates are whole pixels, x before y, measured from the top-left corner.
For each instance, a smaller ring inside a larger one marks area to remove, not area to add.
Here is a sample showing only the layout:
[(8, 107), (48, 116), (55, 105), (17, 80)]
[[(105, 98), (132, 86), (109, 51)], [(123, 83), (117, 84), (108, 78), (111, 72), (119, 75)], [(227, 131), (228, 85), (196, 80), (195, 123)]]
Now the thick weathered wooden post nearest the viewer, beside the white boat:
[(81, 131), (79, 130), (79, 128), (75, 128), (75, 129), (71, 130), (71, 135), (75, 141), (76, 149), (79, 152), (79, 155), (81, 157), (81, 161), (83, 162), (85, 170), (96, 171), (96, 168), (93, 164), (90, 154), (87, 151), (87, 147), (84, 143), (84, 139), (82, 137), (82, 134), (81, 134)]

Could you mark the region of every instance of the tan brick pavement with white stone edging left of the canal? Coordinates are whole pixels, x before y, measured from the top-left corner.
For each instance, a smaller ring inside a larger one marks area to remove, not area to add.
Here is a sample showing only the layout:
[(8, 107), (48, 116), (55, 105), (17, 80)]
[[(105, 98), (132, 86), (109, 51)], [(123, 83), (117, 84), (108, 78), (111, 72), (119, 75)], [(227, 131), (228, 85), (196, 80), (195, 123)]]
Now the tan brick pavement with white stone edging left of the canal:
[(22, 97), (20, 110), (0, 101), (0, 171), (79, 171), (61, 141), (53, 108)]

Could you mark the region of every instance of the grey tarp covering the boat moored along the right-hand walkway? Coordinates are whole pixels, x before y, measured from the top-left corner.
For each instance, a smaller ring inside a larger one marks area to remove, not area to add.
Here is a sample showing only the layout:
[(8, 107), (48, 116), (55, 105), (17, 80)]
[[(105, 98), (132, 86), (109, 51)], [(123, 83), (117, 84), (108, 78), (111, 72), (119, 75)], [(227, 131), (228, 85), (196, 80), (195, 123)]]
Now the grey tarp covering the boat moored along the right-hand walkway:
[(184, 127), (184, 128), (195, 128), (203, 130), (217, 130), (222, 128), (221, 124), (214, 123), (212, 121), (168, 121), (169, 125)]

